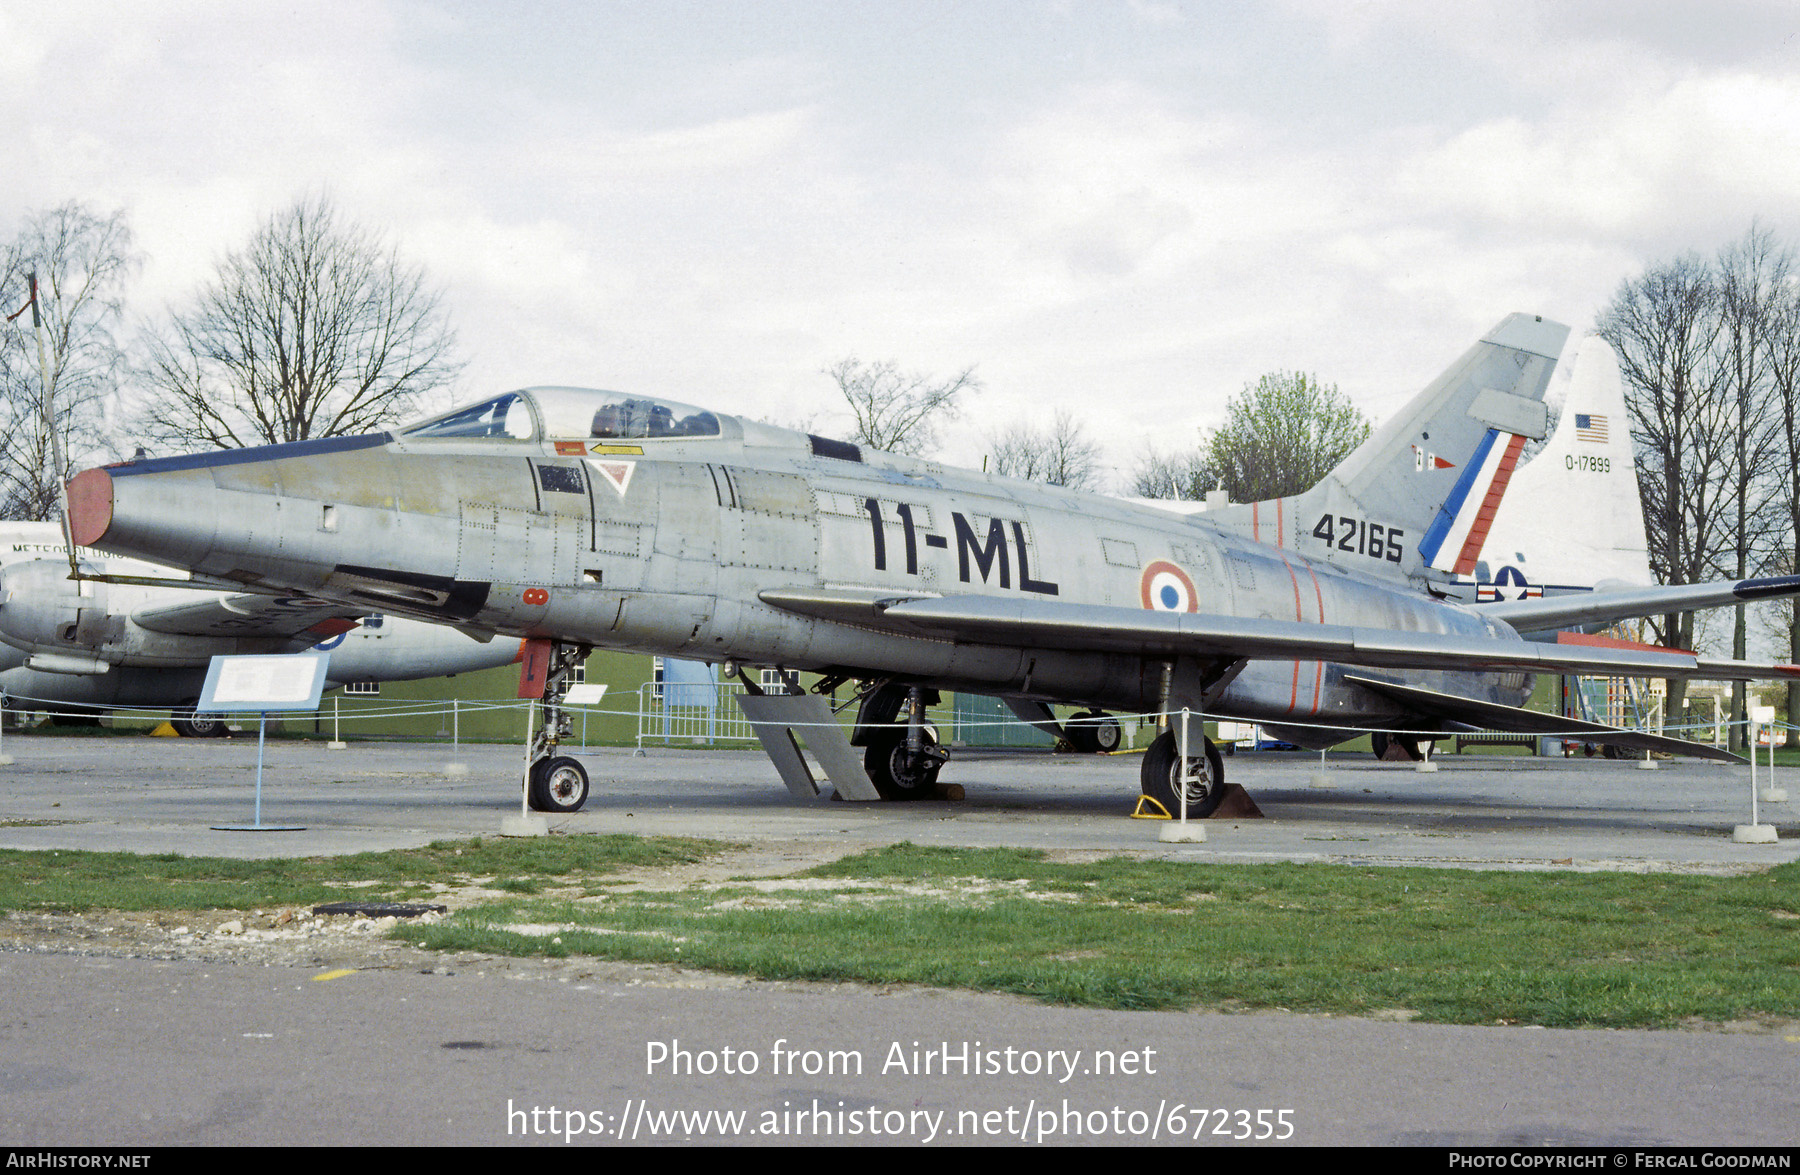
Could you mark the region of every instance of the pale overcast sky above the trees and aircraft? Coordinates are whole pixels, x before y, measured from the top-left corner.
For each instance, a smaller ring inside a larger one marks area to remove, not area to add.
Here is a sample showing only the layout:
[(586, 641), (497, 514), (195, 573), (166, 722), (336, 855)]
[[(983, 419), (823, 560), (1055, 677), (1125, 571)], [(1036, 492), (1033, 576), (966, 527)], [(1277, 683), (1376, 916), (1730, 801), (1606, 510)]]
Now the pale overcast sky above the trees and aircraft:
[(1800, 5), (0, 0), (0, 232), (124, 209), (139, 315), (328, 193), (427, 266), (463, 398), (842, 432), (844, 356), (1129, 468), (1273, 369), (1373, 417), (1505, 313), (1591, 326), (1800, 236)]

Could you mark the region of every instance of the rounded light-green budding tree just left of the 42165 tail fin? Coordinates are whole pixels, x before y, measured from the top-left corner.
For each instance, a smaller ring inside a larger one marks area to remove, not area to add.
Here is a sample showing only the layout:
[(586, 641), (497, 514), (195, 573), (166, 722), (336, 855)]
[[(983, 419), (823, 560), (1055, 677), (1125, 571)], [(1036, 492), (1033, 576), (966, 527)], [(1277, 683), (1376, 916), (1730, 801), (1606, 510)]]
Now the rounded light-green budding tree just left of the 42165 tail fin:
[(1265, 502), (1310, 489), (1366, 437), (1368, 421), (1336, 383), (1276, 371), (1231, 398), (1206, 462), (1233, 502)]

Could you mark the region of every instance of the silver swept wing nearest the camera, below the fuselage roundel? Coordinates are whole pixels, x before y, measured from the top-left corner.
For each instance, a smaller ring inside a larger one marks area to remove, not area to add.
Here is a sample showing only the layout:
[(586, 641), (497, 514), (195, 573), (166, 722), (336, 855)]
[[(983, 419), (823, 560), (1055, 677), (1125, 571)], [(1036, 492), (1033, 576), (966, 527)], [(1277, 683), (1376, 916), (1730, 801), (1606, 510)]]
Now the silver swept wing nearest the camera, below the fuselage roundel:
[[(1800, 579), (1795, 581), (1800, 587)], [(1150, 612), (999, 596), (909, 597), (862, 588), (770, 588), (776, 608), (914, 637), (1013, 648), (1087, 650), (1145, 657), (1336, 660), (1390, 669), (1476, 673), (1595, 673), (1703, 677), (1701, 659), (1645, 646), (1539, 644), (1431, 632), (1305, 624), (1204, 612)], [(1708, 662), (1714, 673), (1735, 662)], [(1791, 666), (1744, 666), (1750, 677), (1800, 677)], [(1775, 673), (1784, 669), (1784, 673)]]

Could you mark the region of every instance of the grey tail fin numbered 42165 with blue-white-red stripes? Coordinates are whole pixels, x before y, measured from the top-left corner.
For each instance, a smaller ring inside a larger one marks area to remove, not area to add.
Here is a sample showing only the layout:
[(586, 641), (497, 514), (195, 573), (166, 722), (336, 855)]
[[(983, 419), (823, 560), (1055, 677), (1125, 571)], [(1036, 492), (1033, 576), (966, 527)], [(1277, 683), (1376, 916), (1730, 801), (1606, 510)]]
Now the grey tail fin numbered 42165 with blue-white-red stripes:
[(1364, 570), (1474, 569), (1568, 327), (1508, 315), (1312, 489), (1208, 511), (1256, 542)]

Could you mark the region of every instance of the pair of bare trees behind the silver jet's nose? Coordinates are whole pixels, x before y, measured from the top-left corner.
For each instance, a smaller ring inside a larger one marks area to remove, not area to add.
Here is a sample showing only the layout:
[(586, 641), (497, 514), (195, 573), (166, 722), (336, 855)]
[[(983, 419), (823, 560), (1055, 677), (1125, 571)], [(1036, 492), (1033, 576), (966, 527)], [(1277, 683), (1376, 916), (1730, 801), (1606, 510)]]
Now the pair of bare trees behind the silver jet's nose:
[(41, 426), (47, 390), (74, 466), (369, 432), (463, 367), (425, 272), (322, 196), (266, 218), (162, 318), (128, 322), (142, 261), (122, 212), (76, 202), (0, 243), (0, 516), (56, 516), (68, 470)]

